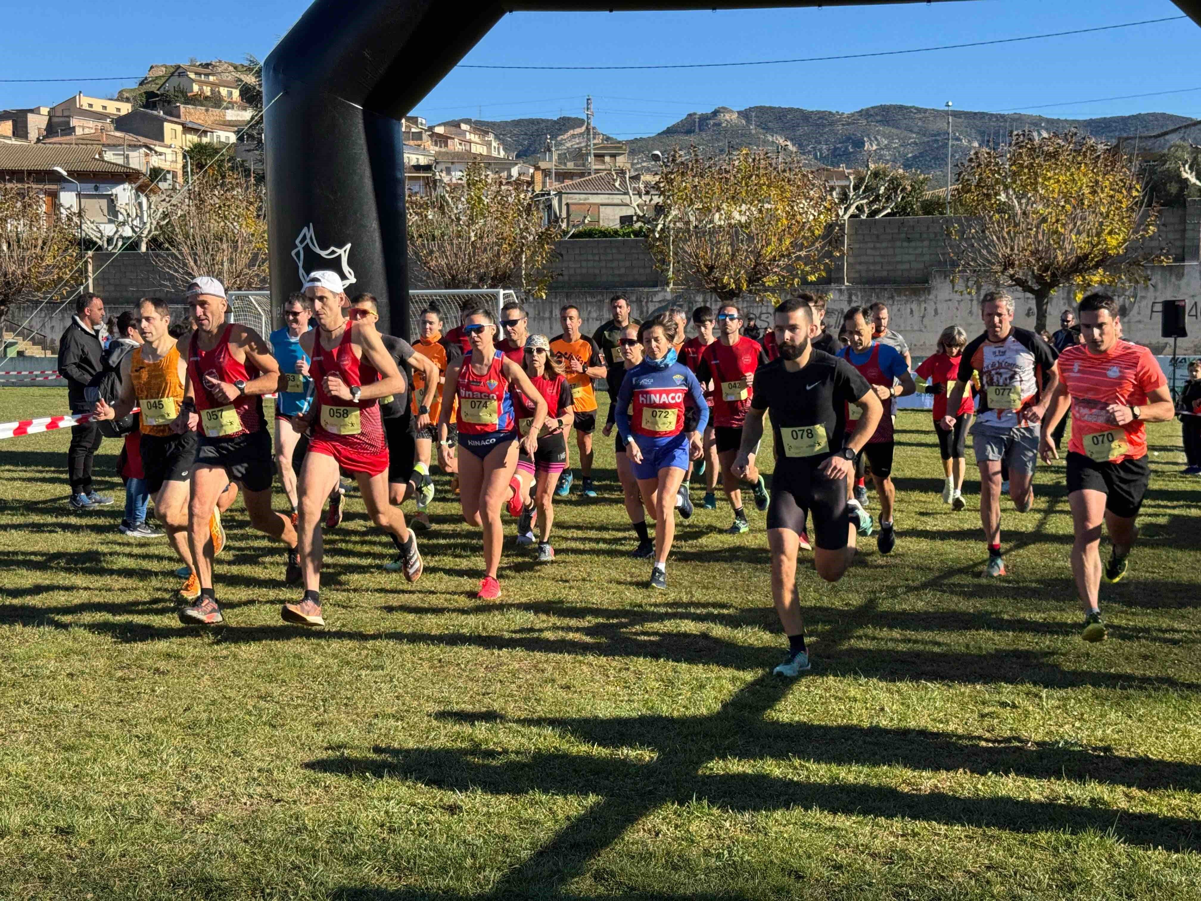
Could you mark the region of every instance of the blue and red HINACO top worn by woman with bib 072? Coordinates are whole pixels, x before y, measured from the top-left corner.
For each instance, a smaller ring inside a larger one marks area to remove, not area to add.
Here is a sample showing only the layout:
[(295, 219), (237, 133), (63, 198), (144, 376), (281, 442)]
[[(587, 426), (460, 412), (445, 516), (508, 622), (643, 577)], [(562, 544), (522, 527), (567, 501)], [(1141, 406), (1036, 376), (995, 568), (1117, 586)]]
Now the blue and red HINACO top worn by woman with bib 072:
[(692, 370), (680, 363), (665, 369), (655, 369), (640, 363), (626, 374), (617, 390), (617, 434), (622, 441), (631, 435), (639, 446), (662, 443), (683, 430), (685, 396), (700, 411), (697, 431), (704, 431), (709, 423), (709, 405), (705, 392)]

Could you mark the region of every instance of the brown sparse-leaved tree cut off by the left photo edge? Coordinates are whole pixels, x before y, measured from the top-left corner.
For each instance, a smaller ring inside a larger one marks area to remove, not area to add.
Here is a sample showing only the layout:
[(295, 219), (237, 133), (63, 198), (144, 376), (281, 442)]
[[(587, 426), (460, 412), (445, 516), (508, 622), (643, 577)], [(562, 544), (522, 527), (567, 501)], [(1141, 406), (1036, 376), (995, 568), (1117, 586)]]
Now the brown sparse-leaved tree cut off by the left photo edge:
[(76, 232), (46, 209), (46, 192), (0, 183), (0, 322), (8, 306), (53, 290), (82, 264)]

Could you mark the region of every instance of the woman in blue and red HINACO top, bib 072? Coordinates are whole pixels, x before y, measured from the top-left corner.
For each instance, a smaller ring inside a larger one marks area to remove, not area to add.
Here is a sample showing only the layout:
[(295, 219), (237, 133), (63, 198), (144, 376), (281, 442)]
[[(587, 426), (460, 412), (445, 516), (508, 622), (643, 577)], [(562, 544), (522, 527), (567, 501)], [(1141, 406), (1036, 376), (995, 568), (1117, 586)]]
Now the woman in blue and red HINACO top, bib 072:
[[(656, 316), (638, 329), (645, 354), (627, 372), (617, 392), (617, 434), (634, 467), (646, 509), (655, 515), (655, 567), (651, 587), (665, 589), (668, 553), (675, 537), (675, 501), (688, 471), (688, 459), (700, 459), (700, 436), (709, 423), (705, 393), (692, 370), (676, 363), (674, 345), (680, 326), (670, 316)], [(683, 400), (691, 394), (699, 422), (683, 430)]]

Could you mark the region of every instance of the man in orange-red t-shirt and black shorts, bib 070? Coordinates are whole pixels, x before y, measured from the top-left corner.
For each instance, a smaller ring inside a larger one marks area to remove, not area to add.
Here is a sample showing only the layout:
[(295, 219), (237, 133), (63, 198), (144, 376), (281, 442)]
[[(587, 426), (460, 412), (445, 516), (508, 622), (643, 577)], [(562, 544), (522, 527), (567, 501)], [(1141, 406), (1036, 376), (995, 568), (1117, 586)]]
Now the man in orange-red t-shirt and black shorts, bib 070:
[(1089, 294), (1080, 302), (1078, 320), (1085, 344), (1068, 347), (1056, 362), (1059, 384), (1044, 417), (1039, 453), (1048, 463), (1059, 457), (1052, 432), (1070, 404), (1068, 505), (1076, 535), (1071, 571), (1085, 605), (1081, 637), (1101, 642), (1101, 523), (1113, 545), (1105, 579), (1118, 581), (1139, 536), (1135, 519), (1151, 479), (1145, 423), (1167, 422), (1176, 411), (1151, 351), (1122, 340), (1117, 300)]

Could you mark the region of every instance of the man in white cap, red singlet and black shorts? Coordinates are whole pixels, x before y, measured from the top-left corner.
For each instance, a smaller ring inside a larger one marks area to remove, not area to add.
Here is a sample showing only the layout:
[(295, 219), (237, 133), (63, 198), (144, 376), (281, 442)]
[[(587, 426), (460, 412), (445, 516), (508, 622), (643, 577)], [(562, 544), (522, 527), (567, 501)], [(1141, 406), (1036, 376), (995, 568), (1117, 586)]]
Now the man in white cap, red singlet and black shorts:
[(199, 425), (189, 538), (201, 596), (180, 609), (179, 619), (191, 626), (219, 626), (225, 617), (213, 587), (209, 517), (229, 482), (241, 485), (250, 524), (288, 547), (285, 579), (289, 584), (300, 580), (300, 562), (292, 520), (271, 509), (275, 471), (262, 396), (281, 388), (279, 363), (252, 328), (226, 322), (229, 304), (216, 279), (193, 279), (187, 303), (196, 330), (187, 346), (187, 386), (174, 428), (184, 431)]

